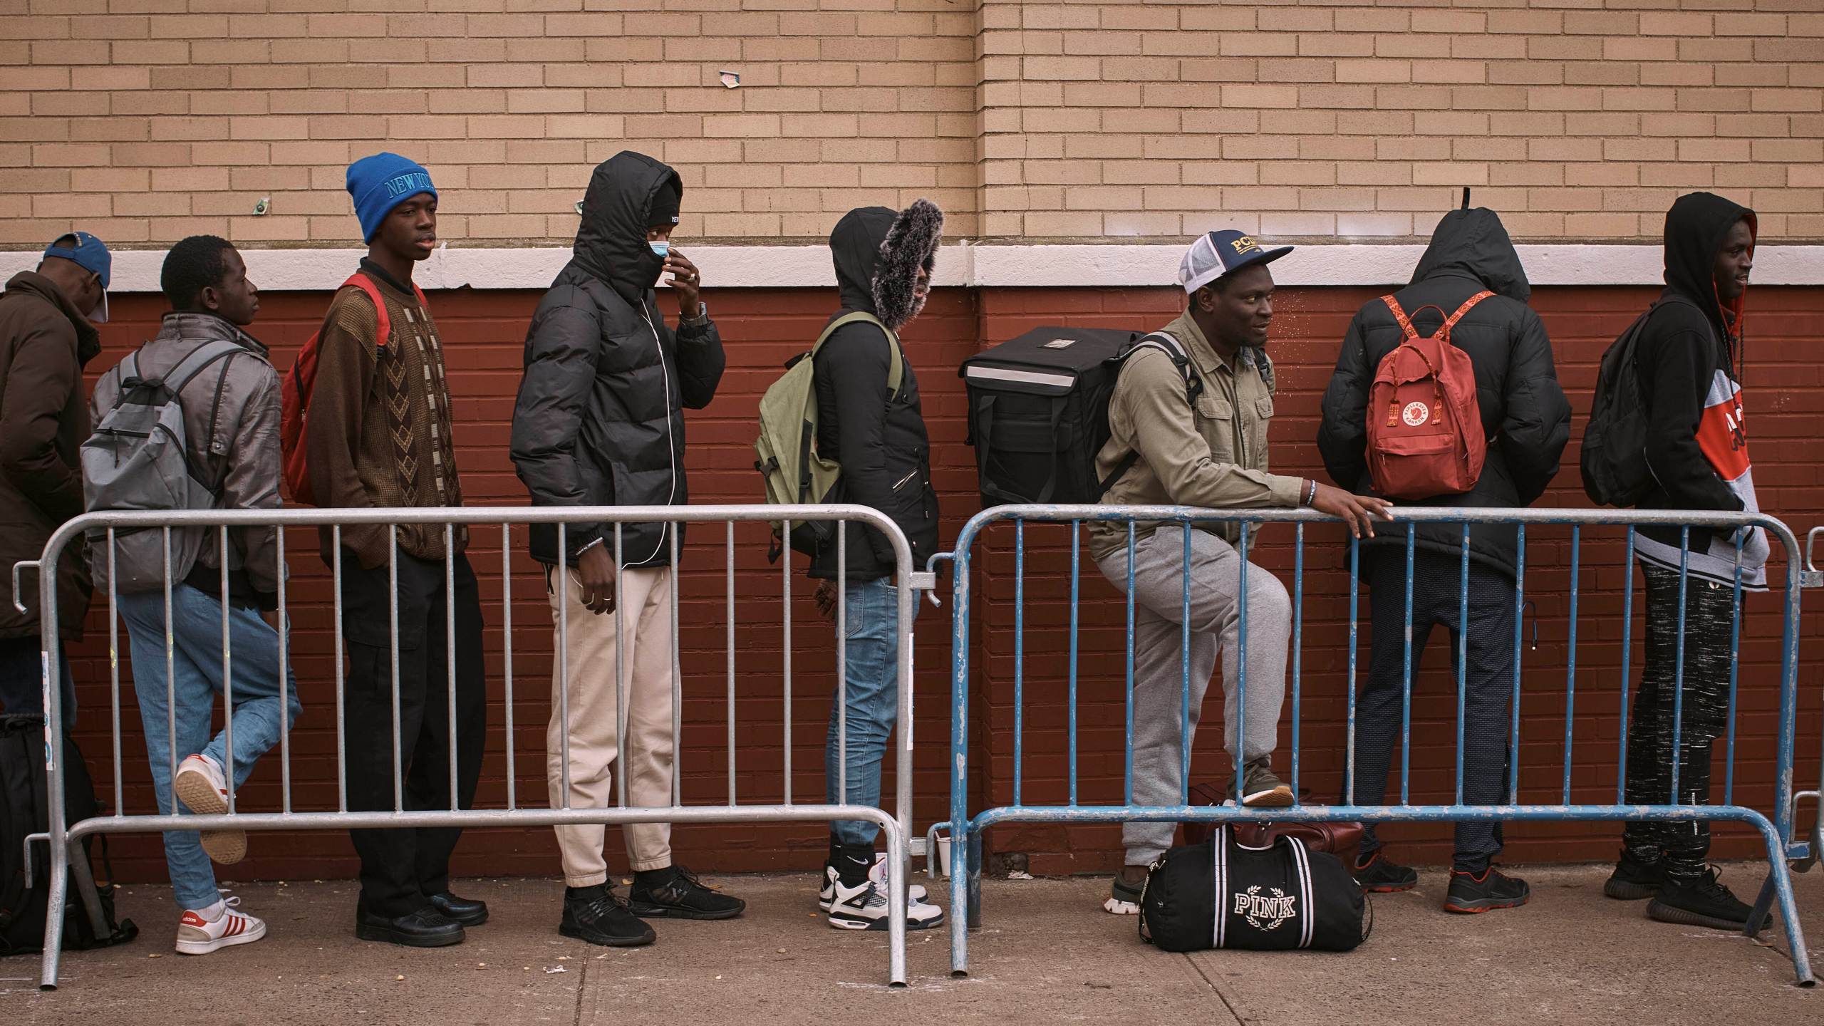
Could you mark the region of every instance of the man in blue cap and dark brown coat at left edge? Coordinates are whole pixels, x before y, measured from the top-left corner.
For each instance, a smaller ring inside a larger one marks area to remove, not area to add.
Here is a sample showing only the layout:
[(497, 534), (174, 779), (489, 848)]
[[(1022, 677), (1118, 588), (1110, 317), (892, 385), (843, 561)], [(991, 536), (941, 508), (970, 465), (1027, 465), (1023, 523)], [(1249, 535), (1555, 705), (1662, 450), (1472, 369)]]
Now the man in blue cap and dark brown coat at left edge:
[[(82, 513), (77, 447), (89, 436), (82, 365), (102, 351), (95, 325), (108, 319), (111, 265), (100, 239), (71, 232), (0, 296), (0, 566), (7, 575), (15, 562), (44, 555), (51, 533)], [(58, 560), (57, 606), (60, 639), (80, 641), (89, 608), (82, 546), (66, 546)], [(0, 710), (9, 714), (44, 712), (36, 597), (26, 608), (0, 604)], [(77, 699), (62, 644), (57, 665), (69, 727)]]

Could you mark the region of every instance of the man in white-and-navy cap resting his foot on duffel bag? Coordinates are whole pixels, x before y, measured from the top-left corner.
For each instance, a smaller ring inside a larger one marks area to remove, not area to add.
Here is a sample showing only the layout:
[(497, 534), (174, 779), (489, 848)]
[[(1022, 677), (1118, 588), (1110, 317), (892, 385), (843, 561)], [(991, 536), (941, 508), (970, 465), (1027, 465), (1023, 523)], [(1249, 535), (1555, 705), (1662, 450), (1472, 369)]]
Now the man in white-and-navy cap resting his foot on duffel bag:
[[(1268, 263), (1291, 246), (1264, 248), (1242, 232), (1209, 232), (1178, 265), (1187, 296), (1184, 316), (1151, 336), (1122, 363), (1109, 396), (1109, 442), (1096, 475), (1111, 480), (1111, 506), (1204, 506), (1246, 509), (1311, 506), (1341, 517), (1353, 535), (1373, 535), (1384, 517), (1379, 498), (1350, 495), (1315, 480), (1268, 473), (1268, 424), (1273, 416), (1273, 361), (1266, 356), (1273, 323)], [(1158, 338), (1166, 336), (1166, 338)], [(1189, 533), (1189, 546), (1186, 546)], [(1222, 654), (1224, 747), (1240, 754), (1231, 790), (1242, 805), (1286, 807), (1291, 789), (1273, 774), (1279, 712), (1286, 694), (1291, 599), (1266, 568), (1248, 564), (1248, 650), (1240, 650), (1240, 566), (1237, 524), (1138, 524), (1133, 548), (1135, 590), (1135, 736), (1133, 800), (1138, 805), (1184, 801), (1184, 677), (1189, 663), (1189, 727), (1195, 734), (1204, 692)], [(1186, 630), (1186, 550), (1189, 548), (1189, 654)], [(1089, 528), (1096, 566), (1127, 590), (1127, 526)], [(1238, 674), (1248, 666), (1246, 714)], [(1246, 717), (1246, 734), (1237, 723)], [(1124, 823), (1127, 858), (1104, 909), (1140, 911), (1147, 867), (1171, 847), (1175, 823)]]

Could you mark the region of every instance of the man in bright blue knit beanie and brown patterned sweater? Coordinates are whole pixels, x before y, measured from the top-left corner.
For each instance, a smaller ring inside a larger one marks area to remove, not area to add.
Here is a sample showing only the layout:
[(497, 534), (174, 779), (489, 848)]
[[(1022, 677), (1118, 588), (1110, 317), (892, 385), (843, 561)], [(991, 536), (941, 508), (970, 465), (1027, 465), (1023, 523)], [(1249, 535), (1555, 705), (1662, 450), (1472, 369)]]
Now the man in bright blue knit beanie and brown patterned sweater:
[[(341, 288), (317, 336), (317, 378), (306, 420), (310, 487), (325, 508), (461, 506), (443, 343), (412, 285), (412, 265), (438, 243), (438, 190), (425, 168), (396, 153), (348, 166), (367, 257), (361, 274), (387, 305), (389, 334), (359, 288)], [(396, 548), (389, 546), (389, 533)], [(323, 562), (337, 557), (319, 529)], [(482, 604), (463, 555), (469, 533), (436, 524), (341, 528), (343, 637), (348, 681), (348, 809), (449, 809), (449, 754), (456, 749), (456, 805), (474, 803), (487, 705), (482, 677)], [(451, 566), (445, 566), (449, 544)], [(389, 555), (398, 592), (389, 584)], [(449, 581), (452, 586), (445, 584)], [(398, 637), (389, 635), (398, 604)], [(451, 666), (445, 630), (454, 606)], [(399, 723), (392, 721), (398, 652)], [(452, 681), (454, 677), (454, 681)], [(456, 723), (449, 723), (449, 688)], [(394, 794), (394, 739), (403, 794)], [(460, 827), (350, 831), (361, 856), (356, 937), (412, 947), (460, 944), (487, 906), (451, 893), (449, 860)]]

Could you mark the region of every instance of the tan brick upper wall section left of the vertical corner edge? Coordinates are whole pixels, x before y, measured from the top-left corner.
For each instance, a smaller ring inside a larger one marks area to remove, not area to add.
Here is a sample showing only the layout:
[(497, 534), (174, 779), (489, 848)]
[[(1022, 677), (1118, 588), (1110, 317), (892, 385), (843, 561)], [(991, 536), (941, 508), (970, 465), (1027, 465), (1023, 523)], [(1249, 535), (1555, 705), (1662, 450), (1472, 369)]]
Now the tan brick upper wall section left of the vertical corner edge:
[[(850, 206), (919, 195), (976, 232), (969, 0), (0, 0), (0, 245), (73, 221), (128, 245), (348, 245), (343, 170), (378, 150), (430, 168), (456, 245), (569, 241), (589, 170), (624, 148), (679, 168), (691, 237), (821, 236)], [(263, 195), (272, 212), (254, 217)]]

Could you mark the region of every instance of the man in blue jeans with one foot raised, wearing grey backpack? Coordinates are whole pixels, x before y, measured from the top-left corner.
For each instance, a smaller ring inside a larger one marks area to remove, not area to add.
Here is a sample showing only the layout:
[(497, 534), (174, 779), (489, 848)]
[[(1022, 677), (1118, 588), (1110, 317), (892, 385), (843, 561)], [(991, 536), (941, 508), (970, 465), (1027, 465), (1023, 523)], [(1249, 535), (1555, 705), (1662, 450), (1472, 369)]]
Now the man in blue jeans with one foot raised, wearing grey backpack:
[[(215, 508), (277, 509), (279, 376), (266, 360), (266, 347), (243, 330), (259, 312), (259, 290), (246, 277), (246, 263), (226, 239), (192, 236), (171, 246), (159, 285), (171, 303), (159, 336), (95, 383), (91, 414), (102, 427), (100, 434), (108, 434), (104, 418), (119, 403), (157, 400), (137, 382), (162, 382), (184, 411), (184, 458), (213, 489)], [(131, 447), (139, 440), (122, 442)], [(261, 619), (277, 610), (283, 573), (275, 555), (277, 528), (228, 529), (226, 592), (217, 529), (175, 528), (171, 535), (173, 548), (184, 551), (190, 544), (179, 535), (193, 535), (197, 555), (190, 573), (171, 581), (170, 619), (162, 566), (120, 573), (131, 559), (128, 553), (120, 553), (115, 564), (122, 577), (155, 581), (146, 590), (119, 586), (120, 617), (133, 648), (133, 694), (146, 730), (159, 812), (170, 816), (177, 811), (171, 800), (175, 790), (190, 812), (221, 814), (228, 812), (226, 767), (233, 767), (239, 789), (254, 772), (255, 759), (297, 723), (297, 683), (279, 665), (277, 630)], [(109, 560), (106, 540), (95, 542), (100, 546), (93, 557), (100, 581)], [(224, 646), (233, 654), (226, 679)], [(217, 694), (232, 699), (232, 756), (226, 728), (210, 736)], [(175, 705), (170, 703), (173, 697)], [(170, 747), (173, 736), (175, 752)], [(181, 761), (173, 776), (177, 756)], [(264, 922), (237, 907), (241, 898), (223, 896), (210, 867), (212, 858), (230, 865), (244, 854), (246, 831), (204, 831), (201, 838), (195, 831), (164, 832), (164, 864), (181, 911), (179, 955), (208, 955), (266, 935)]]

